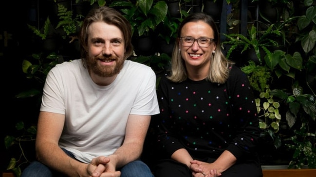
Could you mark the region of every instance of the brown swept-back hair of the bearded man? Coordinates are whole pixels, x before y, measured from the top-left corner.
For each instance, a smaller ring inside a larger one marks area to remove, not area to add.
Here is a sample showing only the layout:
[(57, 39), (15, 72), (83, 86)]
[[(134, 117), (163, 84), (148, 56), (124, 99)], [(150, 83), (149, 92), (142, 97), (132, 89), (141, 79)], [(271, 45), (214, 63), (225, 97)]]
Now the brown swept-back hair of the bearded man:
[(130, 22), (117, 10), (107, 7), (95, 7), (90, 10), (85, 19), (83, 20), (80, 31), (80, 51), (81, 58), (86, 60), (88, 57), (88, 28), (93, 22), (103, 21), (107, 24), (114, 25), (119, 28), (124, 37), (124, 60), (126, 60), (133, 52), (133, 46), (131, 44), (131, 25)]

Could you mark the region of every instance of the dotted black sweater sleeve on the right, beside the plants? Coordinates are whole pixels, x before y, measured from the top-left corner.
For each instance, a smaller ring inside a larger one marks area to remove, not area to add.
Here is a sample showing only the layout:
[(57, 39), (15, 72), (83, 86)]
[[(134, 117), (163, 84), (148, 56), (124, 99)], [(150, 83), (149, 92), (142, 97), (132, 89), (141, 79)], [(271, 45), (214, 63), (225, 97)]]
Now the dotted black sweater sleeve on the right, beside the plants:
[(227, 80), (228, 94), (234, 113), (235, 137), (226, 150), (237, 159), (256, 150), (260, 136), (259, 119), (249, 80), (238, 67), (233, 66)]

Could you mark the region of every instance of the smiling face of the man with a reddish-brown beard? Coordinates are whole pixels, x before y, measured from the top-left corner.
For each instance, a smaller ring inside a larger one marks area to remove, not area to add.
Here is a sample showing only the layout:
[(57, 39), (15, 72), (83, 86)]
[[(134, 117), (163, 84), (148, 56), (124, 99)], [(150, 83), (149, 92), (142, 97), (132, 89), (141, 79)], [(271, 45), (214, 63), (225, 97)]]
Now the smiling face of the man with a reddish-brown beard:
[(90, 74), (112, 77), (124, 63), (124, 37), (119, 28), (105, 22), (93, 22), (88, 29), (87, 66)]

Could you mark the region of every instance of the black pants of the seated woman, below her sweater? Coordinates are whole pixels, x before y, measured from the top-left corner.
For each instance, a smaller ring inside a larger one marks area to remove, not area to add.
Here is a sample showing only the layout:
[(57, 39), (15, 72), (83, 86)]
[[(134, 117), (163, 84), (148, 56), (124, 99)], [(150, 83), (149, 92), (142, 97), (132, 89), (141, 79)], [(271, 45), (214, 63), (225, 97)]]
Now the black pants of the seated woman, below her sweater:
[[(215, 159), (205, 159), (211, 163)], [(192, 177), (191, 170), (183, 163), (170, 159), (160, 160), (154, 166), (155, 177)], [(243, 161), (235, 163), (222, 173), (221, 177), (262, 177), (261, 165), (257, 161)]]

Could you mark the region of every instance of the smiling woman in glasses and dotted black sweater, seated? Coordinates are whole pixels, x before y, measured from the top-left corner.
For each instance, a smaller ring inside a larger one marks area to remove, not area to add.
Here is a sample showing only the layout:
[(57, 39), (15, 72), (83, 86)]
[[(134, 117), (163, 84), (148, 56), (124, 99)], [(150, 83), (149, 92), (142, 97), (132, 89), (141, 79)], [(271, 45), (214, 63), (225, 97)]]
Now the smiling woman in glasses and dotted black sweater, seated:
[(171, 71), (157, 90), (160, 114), (152, 125), (162, 158), (155, 177), (262, 177), (254, 96), (233, 64), (210, 16), (182, 21)]

